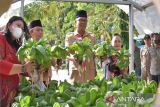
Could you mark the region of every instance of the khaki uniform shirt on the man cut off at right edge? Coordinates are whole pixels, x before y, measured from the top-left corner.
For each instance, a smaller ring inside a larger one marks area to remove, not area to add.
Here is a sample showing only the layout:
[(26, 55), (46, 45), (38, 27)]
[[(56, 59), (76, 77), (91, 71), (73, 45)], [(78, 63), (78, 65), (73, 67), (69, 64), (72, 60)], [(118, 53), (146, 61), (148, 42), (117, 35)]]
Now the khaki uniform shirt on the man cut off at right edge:
[(151, 75), (160, 75), (160, 47), (151, 47), (147, 58), (149, 58), (148, 60)]

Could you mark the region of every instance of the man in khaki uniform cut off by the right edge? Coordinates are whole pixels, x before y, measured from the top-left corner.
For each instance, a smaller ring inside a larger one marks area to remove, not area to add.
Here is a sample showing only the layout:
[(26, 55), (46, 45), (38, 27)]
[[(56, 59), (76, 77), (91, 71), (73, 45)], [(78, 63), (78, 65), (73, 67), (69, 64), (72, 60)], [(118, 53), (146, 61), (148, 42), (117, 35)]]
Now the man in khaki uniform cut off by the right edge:
[(149, 60), (149, 70), (151, 74), (151, 79), (155, 80), (157, 84), (160, 82), (160, 46), (159, 35), (153, 34), (153, 47), (149, 49), (149, 54), (146, 58)]

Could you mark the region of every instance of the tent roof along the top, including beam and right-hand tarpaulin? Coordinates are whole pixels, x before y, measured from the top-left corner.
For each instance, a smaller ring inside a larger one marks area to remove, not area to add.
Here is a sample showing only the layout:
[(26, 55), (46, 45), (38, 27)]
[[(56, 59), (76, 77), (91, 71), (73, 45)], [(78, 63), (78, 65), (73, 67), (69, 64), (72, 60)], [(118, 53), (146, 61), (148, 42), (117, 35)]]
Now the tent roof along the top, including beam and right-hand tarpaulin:
[[(39, 0), (1, 0), (0, 1), (0, 15), (7, 11), (7, 9), (2, 9), (1, 5), (5, 1), (11, 1), (8, 3), (6, 8), (9, 8), (11, 3), (15, 3), (18, 1), (25, 2), (35, 2)], [(157, 17), (160, 17), (158, 12), (156, 11), (152, 0), (42, 0), (42, 1), (58, 1), (58, 2), (87, 2), (87, 3), (109, 3), (109, 4), (123, 4), (133, 5), (134, 8), (134, 25), (136, 26), (139, 34), (148, 33), (148, 32), (159, 32), (160, 27), (157, 26), (160, 24), (160, 20)], [(2, 5), (3, 6), (3, 5)], [(120, 7), (120, 6), (119, 6)], [(121, 7), (120, 7), (121, 8)], [(126, 10), (126, 8), (121, 8), (122, 10)], [(127, 8), (127, 10), (129, 10)]]

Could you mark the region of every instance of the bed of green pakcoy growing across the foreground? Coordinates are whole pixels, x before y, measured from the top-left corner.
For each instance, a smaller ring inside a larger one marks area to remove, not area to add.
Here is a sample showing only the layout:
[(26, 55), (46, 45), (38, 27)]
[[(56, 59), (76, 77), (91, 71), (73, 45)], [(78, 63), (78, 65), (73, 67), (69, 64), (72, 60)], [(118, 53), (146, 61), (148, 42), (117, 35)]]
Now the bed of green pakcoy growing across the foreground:
[(146, 82), (135, 73), (72, 85), (52, 80), (44, 92), (30, 85), (23, 80), (12, 107), (152, 107), (157, 91), (155, 81)]

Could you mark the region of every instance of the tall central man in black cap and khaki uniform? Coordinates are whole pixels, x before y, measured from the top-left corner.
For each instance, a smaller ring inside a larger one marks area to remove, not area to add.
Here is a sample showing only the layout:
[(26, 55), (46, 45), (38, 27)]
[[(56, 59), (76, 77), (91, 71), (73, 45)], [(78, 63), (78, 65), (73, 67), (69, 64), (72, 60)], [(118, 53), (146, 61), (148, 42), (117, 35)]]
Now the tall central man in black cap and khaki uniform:
[[(82, 41), (85, 37), (91, 40), (91, 44), (95, 44), (95, 37), (92, 33), (86, 31), (87, 27), (87, 12), (85, 10), (79, 10), (76, 14), (76, 28), (74, 32), (71, 32), (66, 35), (66, 46), (73, 44), (75, 41)], [(74, 52), (71, 52), (74, 53)], [(90, 61), (82, 61), (86, 71), (81, 72), (81, 65), (77, 60), (71, 56), (69, 59), (69, 82), (87, 82), (87, 80), (93, 80), (95, 77), (95, 62), (94, 58), (91, 58)]]

